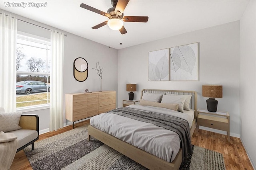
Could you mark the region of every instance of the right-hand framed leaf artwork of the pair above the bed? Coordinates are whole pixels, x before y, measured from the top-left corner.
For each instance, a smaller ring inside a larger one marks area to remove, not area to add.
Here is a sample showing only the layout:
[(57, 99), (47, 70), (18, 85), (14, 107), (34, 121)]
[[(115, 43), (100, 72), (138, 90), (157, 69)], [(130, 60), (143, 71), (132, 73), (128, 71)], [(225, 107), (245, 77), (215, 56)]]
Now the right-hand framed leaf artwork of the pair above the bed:
[(198, 43), (170, 48), (170, 79), (198, 80)]

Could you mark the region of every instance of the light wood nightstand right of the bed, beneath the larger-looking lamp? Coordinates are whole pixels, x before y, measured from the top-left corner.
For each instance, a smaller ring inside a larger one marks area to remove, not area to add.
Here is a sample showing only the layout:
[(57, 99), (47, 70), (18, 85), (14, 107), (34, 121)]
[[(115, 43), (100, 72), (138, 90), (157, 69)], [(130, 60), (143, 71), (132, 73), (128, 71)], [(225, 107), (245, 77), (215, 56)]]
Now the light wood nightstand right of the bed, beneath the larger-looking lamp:
[(227, 132), (230, 141), (229, 114), (224, 111), (210, 112), (206, 109), (197, 110), (197, 128), (199, 126), (210, 127)]

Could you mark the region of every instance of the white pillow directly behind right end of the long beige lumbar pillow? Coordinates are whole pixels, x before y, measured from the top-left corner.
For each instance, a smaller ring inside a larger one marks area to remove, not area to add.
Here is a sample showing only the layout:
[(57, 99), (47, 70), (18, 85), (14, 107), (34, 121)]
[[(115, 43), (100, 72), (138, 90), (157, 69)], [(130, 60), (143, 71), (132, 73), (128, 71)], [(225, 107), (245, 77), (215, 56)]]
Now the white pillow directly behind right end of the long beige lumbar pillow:
[(180, 98), (180, 96), (168, 96), (166, 94), (163, 95), (161, 103), (172, 103), (179, 104), (178, 111), (184, 113), (184, 102), (186, 98)]

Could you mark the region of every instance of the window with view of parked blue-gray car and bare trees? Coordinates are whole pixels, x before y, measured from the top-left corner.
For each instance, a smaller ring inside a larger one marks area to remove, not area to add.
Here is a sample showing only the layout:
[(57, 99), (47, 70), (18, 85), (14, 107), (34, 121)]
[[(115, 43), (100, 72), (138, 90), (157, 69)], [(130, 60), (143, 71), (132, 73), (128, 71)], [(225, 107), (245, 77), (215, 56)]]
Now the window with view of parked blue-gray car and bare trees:
[(43, 37), (17, 35), (17, 108), (49, 105), (50, 47)]

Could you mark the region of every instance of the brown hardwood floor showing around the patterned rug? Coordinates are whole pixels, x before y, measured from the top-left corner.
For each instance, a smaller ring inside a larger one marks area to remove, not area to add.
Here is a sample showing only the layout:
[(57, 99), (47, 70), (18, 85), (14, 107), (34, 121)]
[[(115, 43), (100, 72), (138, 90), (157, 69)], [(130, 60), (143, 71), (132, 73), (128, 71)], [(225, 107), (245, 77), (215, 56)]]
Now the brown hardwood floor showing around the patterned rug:
[[(89, 124), (89, 120), (76, 123), (75, 128), (86, 124)], [(39, 135), (39, 140), (58, 135), (71, 129), (73, 129), (73, 125), (69, 125), (58, 131), (44, 133)], [(230, 137), (229, 143), (226, 135), (198, 129), (192, 136), (192, 144), (222, 153), (227, 170), (253, 170), (252, 164), (239, 138)], [(11, 170), (32, 170), (23, 150), (16, 153)]]

